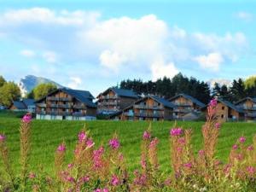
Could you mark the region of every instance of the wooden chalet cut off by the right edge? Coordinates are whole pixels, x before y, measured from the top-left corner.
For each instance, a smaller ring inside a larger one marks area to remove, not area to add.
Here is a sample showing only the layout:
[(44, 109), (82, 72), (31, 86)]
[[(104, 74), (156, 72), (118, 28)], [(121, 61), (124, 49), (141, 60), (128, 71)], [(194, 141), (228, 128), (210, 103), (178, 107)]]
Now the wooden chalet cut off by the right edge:
[(256, 98), (246, 97), (236, 102), (236, 108), (240, 108), (245, 113), (245, 120), (256, 120)]

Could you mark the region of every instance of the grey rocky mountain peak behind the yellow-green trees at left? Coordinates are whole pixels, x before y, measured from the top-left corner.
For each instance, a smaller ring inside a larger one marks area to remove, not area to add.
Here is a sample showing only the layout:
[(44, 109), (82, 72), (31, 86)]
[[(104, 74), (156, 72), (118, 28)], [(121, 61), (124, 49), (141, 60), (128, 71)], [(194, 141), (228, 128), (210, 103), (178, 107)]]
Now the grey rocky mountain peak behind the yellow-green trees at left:
[(58, 88), (63, 87), (61, 84), (57, 84), (53, 80), (36, 77), (34, 75), (26, 75), (25, 78), (20, 79), (20, 82), (18, 85), (21, 90), (21, 95), (26, 96), (26, 94), (29, 93), (38, 84), (47, 84), (47, 83), (55, 84)]

